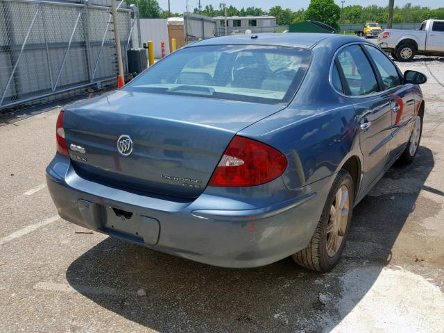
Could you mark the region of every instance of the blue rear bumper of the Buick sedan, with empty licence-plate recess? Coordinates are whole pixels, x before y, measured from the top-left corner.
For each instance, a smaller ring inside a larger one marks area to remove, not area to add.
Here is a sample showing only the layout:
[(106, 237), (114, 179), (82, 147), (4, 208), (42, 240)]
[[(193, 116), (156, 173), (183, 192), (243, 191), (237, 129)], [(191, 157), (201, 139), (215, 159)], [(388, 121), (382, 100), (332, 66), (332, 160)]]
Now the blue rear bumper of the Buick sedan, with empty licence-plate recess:
[[(164, 253), (233, 268), (271, 264), (305, 248), (333, 178), (287, 189), (291, 198), (271, 194), (284, 200), (255, 207), (248, 198), (226, 196), (211, 187), (192, 201), (115, 189), (80, 178), (60, 154), (46, 169), (51, 197), (63, 219)], [(122, 219), (112, 208), (133, 215)]]

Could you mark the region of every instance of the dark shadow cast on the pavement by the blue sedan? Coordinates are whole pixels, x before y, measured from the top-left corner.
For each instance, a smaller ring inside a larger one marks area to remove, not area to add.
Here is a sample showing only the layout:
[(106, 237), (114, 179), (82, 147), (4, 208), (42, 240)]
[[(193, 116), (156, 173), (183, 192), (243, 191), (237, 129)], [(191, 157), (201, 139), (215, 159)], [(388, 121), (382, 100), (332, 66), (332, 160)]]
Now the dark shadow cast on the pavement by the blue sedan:
[[(393, 259), (420, 190), (442, 193), (424, 186), (433, 167), (432, 151), (420, 146), (413, 164), (388, 170), (355, 208), (343, 259), (330, 273), (289, 258), (260, 268), (218, 268), (108, 238), (72, 262), (67, 281), (101, 307), (159, 332), (330, 331)], [(348, 286), (343, 277), (363, 267), (364, 274), (353, 275), (359, 287)]]

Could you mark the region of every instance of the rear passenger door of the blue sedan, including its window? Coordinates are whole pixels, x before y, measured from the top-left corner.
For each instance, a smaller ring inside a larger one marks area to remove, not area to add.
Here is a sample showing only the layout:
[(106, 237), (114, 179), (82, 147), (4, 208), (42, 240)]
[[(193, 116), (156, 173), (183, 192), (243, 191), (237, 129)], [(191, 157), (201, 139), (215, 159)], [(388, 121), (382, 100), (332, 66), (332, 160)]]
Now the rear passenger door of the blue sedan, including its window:
[(336, 67), (344, 94), (355, 100), (359, 119), (359, 142), (364, 155), (362, 189), (366, 189), (386, 167), (391, 137), (391, 108), (388, 98), (378, 94), (377, 77), (359, 44), (338, 53)]

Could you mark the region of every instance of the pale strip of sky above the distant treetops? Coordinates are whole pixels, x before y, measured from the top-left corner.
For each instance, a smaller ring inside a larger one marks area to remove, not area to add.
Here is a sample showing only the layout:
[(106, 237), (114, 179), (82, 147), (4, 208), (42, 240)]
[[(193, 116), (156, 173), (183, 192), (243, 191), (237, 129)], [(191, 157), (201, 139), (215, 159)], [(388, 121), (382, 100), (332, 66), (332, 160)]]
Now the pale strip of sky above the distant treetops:
[[(168, 0), (157, 0), (160, 4), (160, 7), (162, 9), (167, 10), (168, 9)], [(193, 10), (193, 8), (197, 7), (197, 0), (189, 0), (188, 6), (190, 8), (190, 11)], [(242, 0), (242, 1), (234, 1), (234, 0), (200, 0), (200, 3), (203, 7), (205, 5), (212, 4), (214, 7), (219, 7), (219, 3), (224, 2), (227, 3), (228, 6), (233, 5), (237, 8), (242, 7), (261, 7), (263, 9), (270, 9), (273, 6), (279, 5), (283, 8), (291, 8), (293, 10), (298, 10), (300, 8), (307, 8), (309, 4), (309, 0), (280, 0), (280, 1), (267, 1), (267, 0)], [(336, 3), (341, 6), (341, 1), (336, 0)], [(395, 6), (404, 6), (405, 3), (412, 3), (413, 5), (420, 5), (420, 6), (427, 6), (431, 8), (438, 8), (444, 6), (443, 0), (395, 0)], [(171, 4), (171, 11), (172, 12), (184, 12), (185, 11), (185, 0), (170, 0)], [(344, 6), (347, 5), (361, 5), (361, 6), (368, 6), (370, 4), (376, 4), (378, 6), (387, 6), (388, 0), (345, 0)]]

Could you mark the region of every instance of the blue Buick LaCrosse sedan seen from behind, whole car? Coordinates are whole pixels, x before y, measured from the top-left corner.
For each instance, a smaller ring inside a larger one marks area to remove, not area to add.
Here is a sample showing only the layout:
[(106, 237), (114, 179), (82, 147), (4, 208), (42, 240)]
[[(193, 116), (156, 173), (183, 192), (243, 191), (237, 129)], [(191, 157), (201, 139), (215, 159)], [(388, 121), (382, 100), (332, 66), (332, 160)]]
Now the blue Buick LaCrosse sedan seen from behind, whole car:
[(329, 271), (352, 210), (418, 150), (427, 78), (330, 34), (219, 37), (59, 114), (63, 219), (187, 259)]

